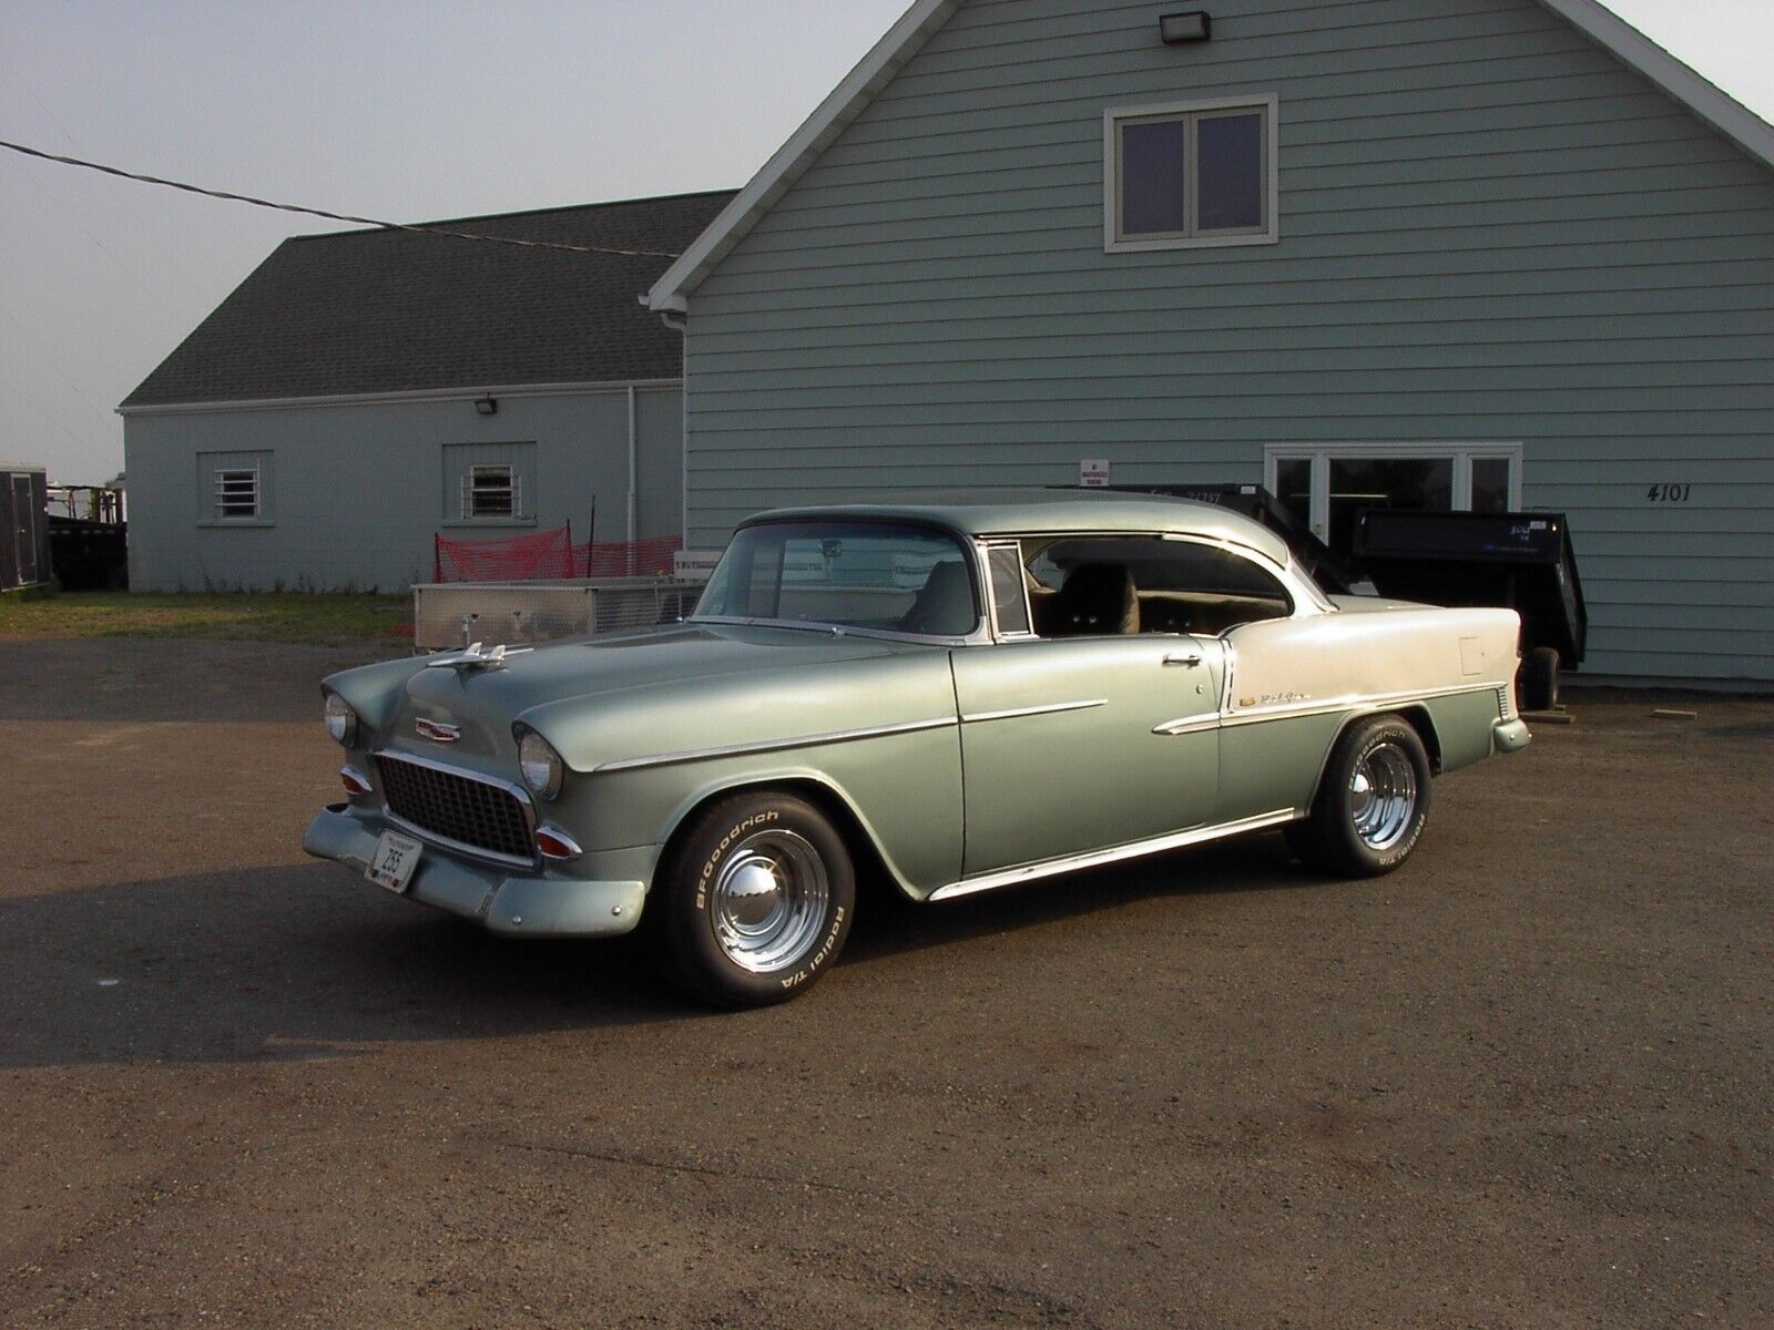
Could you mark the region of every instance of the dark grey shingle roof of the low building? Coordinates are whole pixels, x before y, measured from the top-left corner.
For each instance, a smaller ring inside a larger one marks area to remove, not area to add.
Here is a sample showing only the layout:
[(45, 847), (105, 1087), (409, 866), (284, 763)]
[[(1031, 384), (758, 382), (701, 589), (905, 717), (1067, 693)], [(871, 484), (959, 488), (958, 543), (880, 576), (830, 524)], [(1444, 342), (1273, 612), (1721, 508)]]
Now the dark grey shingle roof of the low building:
[[(731, 190), (438, 222), (566, 245), (681, 252)], [(639, 296), (671, 259), (406, 231), (286, 239), (124, 406), (683, 374), (683, 337)]]

